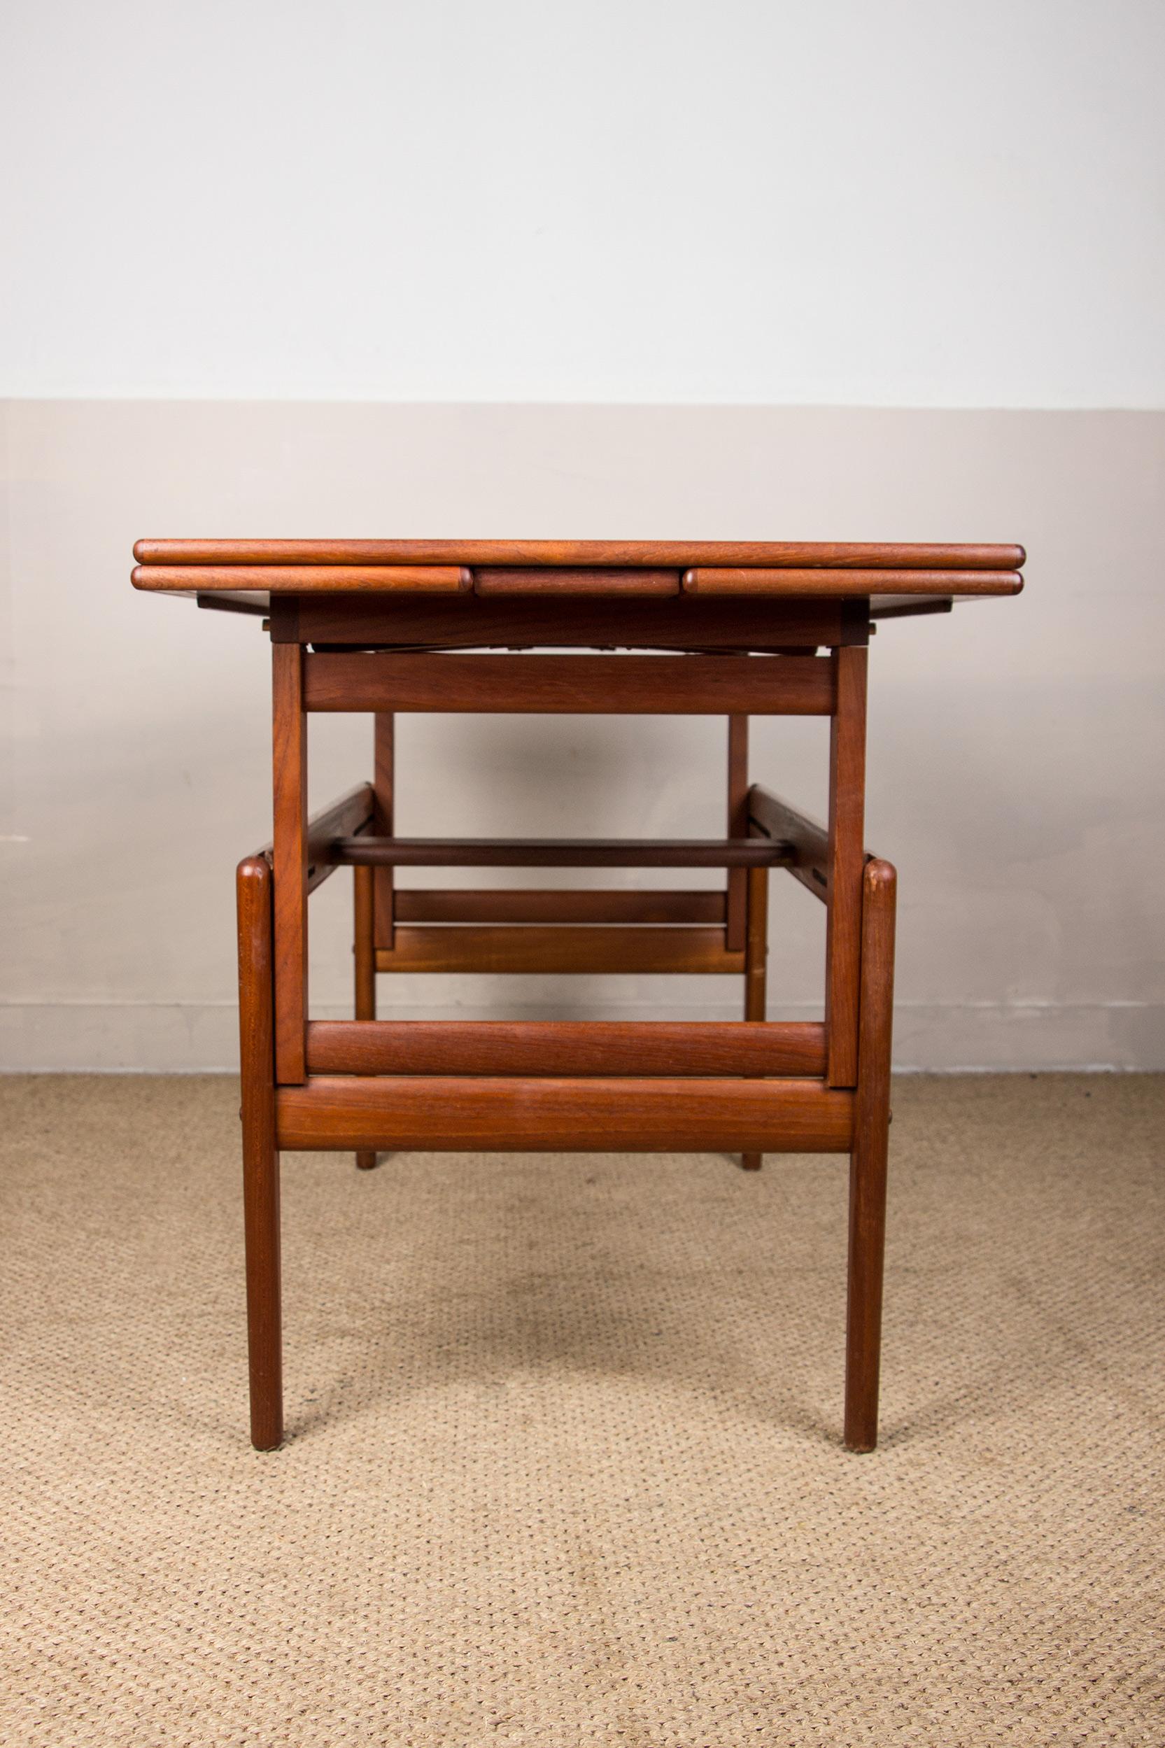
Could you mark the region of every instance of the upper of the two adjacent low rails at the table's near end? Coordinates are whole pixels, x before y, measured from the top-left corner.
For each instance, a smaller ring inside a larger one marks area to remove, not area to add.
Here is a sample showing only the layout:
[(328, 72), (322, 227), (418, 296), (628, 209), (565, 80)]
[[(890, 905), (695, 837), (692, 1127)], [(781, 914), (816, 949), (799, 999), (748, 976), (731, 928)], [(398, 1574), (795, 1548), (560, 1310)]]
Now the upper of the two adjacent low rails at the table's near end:
[(823, 1075), (824, 1026), (657, 1021), (313, 1021), (325, 1075)]

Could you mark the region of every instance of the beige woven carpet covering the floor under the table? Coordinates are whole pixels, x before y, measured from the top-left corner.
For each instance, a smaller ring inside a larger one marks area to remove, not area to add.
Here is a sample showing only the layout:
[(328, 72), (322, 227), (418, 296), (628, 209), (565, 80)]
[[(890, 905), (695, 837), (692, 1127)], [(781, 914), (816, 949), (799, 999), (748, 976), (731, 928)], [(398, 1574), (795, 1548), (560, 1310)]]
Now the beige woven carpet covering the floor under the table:
[(884, 1444), (844, 1162), (285, 1161), (246, 1444), (236, 1089), (0, 1082), (0, 1739), (1165, 1743), (1165, 1082), (896, 1089)]

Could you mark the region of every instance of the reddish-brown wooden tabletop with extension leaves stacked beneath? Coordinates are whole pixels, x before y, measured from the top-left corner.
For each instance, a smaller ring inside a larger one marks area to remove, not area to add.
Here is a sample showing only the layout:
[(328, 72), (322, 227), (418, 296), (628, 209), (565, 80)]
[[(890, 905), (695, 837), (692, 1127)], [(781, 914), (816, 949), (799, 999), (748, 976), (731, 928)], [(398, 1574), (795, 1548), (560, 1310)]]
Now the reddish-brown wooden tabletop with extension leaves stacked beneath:
[[(791, 540), (138, 540), (136, 589), (234, 596), (870, 596), (915, 610), (1018, 594), (1020, 545)], [(225, 601), (224, 601), (225, 605)]]

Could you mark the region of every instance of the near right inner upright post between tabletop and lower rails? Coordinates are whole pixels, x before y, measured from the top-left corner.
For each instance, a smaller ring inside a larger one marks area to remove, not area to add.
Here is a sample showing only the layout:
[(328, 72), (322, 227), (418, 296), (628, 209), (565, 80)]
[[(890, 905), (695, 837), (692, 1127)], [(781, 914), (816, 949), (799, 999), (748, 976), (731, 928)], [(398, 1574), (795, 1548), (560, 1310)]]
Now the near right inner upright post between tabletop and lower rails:
[(835, 650), (837, 713), (830, 729), (830, 898), (824, 1023), (830, 1086), (858, 1080), (861, 876), (865, 869), (866, 650)]

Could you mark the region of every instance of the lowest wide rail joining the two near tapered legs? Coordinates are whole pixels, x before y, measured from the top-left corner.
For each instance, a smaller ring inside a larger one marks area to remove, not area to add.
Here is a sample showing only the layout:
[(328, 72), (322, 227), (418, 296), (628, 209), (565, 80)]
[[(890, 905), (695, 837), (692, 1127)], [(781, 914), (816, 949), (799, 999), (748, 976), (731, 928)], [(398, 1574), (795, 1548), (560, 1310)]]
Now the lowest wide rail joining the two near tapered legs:
[(854, 1094), (821, 1080), (311, 1077), (276, 1089), (283, 1148), (844, 1154)]

